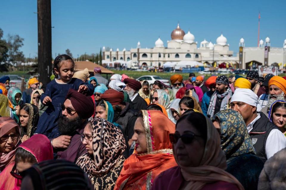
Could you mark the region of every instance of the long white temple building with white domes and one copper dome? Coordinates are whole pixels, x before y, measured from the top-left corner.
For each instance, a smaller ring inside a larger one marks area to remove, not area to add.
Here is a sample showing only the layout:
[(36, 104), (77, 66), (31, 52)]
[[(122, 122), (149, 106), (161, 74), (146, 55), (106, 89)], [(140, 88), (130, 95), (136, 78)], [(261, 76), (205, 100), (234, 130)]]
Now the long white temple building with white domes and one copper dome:
[[(266, 47), (266, 48), (265, 48)], [(266, 49), (266, 50), (265, 50)], [(259, 47), (245, 47), (244, 39), (239, 41), (239, 51), (234, 54), (234, 51), (229, 50), (227, 38), (221, 34), (217, 37), (215, 43), (208, 42), (206, 39), (199, 43), (195, 41), (195, 36), (188, 31), (184, 32), (177, 25), (171, 33), (171, 40), (167, 41), (167, 47), (164, 42), (158, 38), (155, 41), (153, 48), (141, 48), (141, 43), (138, 41), (137, 48), (131, 48), (126, 51), (124, 48), (120, 51), (110, 49), (105, 51), (103, 47), (103, 64), (114, 67), (114, 63), (121, 65), (138, 65), (139, 67), (158, 67), (164, 63), (207, 63), (212, 66), (218, 66), (226, 63), (234, 68), (248, 68), (248, 62), (254, 62), (257, 65), (268, 65), (273, 63), (286, 63), (286, 39), (283, 47), (275, 48), (270, 46), (270, 38), (265, 38), (265, 42), (260, 40)]]

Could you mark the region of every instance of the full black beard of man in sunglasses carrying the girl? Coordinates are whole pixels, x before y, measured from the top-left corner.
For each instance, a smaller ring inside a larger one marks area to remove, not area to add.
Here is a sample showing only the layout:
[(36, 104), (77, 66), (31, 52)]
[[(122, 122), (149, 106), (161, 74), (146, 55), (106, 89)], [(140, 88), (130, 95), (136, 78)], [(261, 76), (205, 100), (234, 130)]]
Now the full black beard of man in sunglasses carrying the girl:
[(59, 127), (60, 134), (62, 135), (72, 135), (74, 131), (80, 127), (82, 124), (82, 119), (78, 116), (73, 120), (69, 120), (65, 116), (60, 116), (57, 121), (57, 125)]

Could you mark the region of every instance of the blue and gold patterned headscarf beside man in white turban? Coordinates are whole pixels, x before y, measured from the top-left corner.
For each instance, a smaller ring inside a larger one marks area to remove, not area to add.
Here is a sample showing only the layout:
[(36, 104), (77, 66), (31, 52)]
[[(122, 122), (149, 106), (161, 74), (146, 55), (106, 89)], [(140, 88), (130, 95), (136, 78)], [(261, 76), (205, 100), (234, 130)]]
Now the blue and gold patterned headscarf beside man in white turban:
[(212, 118), (215, 120), (220, 123), (220, 147), (227, 161), (247, 153), (256, 154), (243, 117), (237, 111), (221, 110)]

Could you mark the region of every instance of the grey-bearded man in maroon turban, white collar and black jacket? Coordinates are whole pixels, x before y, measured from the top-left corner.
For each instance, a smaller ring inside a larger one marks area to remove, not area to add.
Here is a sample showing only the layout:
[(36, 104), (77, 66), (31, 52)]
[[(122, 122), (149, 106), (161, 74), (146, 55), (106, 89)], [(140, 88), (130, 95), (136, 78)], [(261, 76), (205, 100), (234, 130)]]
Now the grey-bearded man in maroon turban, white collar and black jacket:
[(142, 88), (141, 83), (134, 79), (124, 79), (124, 83), (126, 84), (124, 91), (132, 101), (133, 109), (137, 111), (145, 110), (147, 108), (147, 103), (138, 94), (139, 90)]

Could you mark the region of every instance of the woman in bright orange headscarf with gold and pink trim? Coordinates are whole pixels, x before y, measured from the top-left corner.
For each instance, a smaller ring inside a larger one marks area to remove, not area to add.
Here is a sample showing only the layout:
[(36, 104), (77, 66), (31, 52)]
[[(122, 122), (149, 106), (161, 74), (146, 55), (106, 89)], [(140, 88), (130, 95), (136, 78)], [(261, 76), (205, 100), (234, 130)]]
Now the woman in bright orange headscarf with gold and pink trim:
[(174, 132), (175, 124), (164, 113), (141, 110), (132, 136), (136, 141), (135, 153), (123, 163), (115, 189), (150, 189), (161, 172), (176, 166), (168, 138)]

